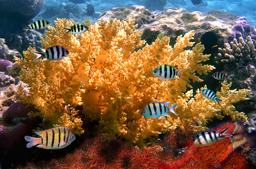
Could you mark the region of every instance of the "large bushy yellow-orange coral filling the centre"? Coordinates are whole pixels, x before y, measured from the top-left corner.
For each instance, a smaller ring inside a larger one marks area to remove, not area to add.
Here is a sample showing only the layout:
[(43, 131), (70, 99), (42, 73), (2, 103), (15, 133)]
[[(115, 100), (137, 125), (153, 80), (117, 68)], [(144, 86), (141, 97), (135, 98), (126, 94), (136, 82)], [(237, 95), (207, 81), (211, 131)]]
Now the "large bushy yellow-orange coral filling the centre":
[[(86, 21), (88, 31), (77, 36), (65, 33), (63, 27), (74, 24), (71, 19), (57, 19), (54, 26), (48, 26), (49, 31), (42, 39), (46, 48), (53, 45), (67, 48), (70, 51), (67, 59), (32, 62), (35, 55), (30, 50), (35, 48), (31, 47), (24, 52), (25, 59), (16, 58), (23, 67), (21, 80), (30, 87), (29, 96), (20, 87), (20, 98), (39, 110), (30, 115), (43, 116), (44, 129), (61, 125), (76, 134), (84, 132), (78, 111), (65, 111), (66, 105), (82, 105), (84, 117), (97, 121), (94, 127), (97, 133), (105, 132), (109, 138), (121, 136), (139, 146), (178, 125), (181, 128), (192, 125), (189, 124), (192, 120), (201, 121), (198, 125), (203, 127), (198, 127), (198, 131), (206, 129), (207, 120), (213, 116), (222, 118), (221, 112), (232, 119), (246, 118), (234, 111), (231, 104), (246, 99), (246, 89), (228, 90), (231, 84), (224, 82), (222, 91), (217, 92), (223, 100), (219, 105), (203, 97), (199, 90), (195, 98), (190, 98), (193, 95), (192, 90), (187, 91), (187, 87), (192, 87), (190, 80), (203, 81), (198, 74), (214, 69), (200, 63), (210, 56), (202, 54), (204, 47), (200, 43), (192, 50), (184, 50), (194, 44), (190, 42), (193, 31), (179, 36), (174, 47), (169, 45), (169, 37), (162, 34), (151, 45), (142, 47), (145, 41), (141, 40), (142, 33), (134, 30), (134, 20), (101, 20), (93, 26)], [(184, 68), (181, 73), (184, 78), (168, 81), (155, 78), (151, 72), (160, 64)], [(179, 117), (142, 116), (142, 108), (153, 101), (179, 103), (175, 109)], [(196, 122), (193, 125), (197, 126)]]

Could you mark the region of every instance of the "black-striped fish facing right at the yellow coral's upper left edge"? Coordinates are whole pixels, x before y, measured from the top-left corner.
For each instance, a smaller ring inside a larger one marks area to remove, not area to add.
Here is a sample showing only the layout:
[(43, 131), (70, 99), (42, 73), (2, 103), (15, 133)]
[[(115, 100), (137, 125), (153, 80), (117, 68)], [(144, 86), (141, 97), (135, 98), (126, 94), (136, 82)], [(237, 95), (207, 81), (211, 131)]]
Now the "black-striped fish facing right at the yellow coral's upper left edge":
[(46, 60), (56, 61), (56, 60), (61, 60), (63, 58), (66, 58), (66, 56), (69, 54), (69, 51), (65, 47), (60, 45), (52, 46), (49, 48), (42, 48), (42, 51), (43, 53), (31, 50), (32, 53), (37, 55), (34, 61), (37, 61), (40, 58), (44, 58), (43, 61), (46, 61)]

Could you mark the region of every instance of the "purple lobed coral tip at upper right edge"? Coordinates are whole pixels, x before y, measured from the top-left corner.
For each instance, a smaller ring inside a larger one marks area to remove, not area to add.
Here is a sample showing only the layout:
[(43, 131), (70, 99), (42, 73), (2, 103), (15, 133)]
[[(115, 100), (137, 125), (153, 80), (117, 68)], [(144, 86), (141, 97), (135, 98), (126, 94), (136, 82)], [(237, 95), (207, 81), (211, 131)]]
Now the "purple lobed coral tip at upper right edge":
[(239, 37), (245, 39), (248, 35), (251, 36), (251, 40), (255, 42), (256, 31), (253, 25), (249, 25), (246, 17), (239, 17), (234, 25), (231, 34), (228, 36), (228, 42), (230, 43), (234, 38), (239, 41)]

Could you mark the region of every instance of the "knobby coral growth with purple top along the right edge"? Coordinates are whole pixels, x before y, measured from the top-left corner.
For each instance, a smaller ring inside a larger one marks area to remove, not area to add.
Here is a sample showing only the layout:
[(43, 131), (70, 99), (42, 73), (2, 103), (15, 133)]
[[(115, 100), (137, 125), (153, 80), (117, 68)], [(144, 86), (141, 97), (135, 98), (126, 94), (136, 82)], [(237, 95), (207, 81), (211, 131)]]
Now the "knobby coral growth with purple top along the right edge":
[[(240, 32), (241, 36), (239, 36), (239, 38), (232, 38), (232, 41), (229, 43), (224, 43), (223, 48), (219, 47), (219, 53), (215, 56), (215, 61), (218, 64), (219, 71), (234, 74), (232, 76), (233, 88), (248, 88), (251, 90), (251, 94), (248, 95), (250, 101), (240, 107), (241, 109), (247, 109), (248, 112), (251, 112), (256, 108), (256, 45), (255, 40), (251, 38), (254, 28), (246, 24), (247, 21), (243, 18), (244, 17), (240, 17), (240, 20), (238, 20), (238, 22), (244, 24)], [(249, 29), (249, 27), (251, 28)], [(251, 35), (245, 36), (247, 34)], [(230, 36), (232, 36), (232, 34)]]

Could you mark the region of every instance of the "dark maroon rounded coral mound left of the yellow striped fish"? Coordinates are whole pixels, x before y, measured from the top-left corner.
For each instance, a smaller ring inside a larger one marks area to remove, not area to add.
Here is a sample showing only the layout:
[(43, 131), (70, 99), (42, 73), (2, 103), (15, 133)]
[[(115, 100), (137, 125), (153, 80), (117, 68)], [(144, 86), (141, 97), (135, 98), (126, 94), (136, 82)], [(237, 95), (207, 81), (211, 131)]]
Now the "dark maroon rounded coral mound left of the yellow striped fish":
[(30, 133), (40, 120), (38, 117), (27, 116), (27, 113), (31, 111), (36, 111), (36, 109), (15, 102), (3, 113), (3, 122), (0, 123), (1, 149), (13, 149), (24, 141), (24, 136)]

